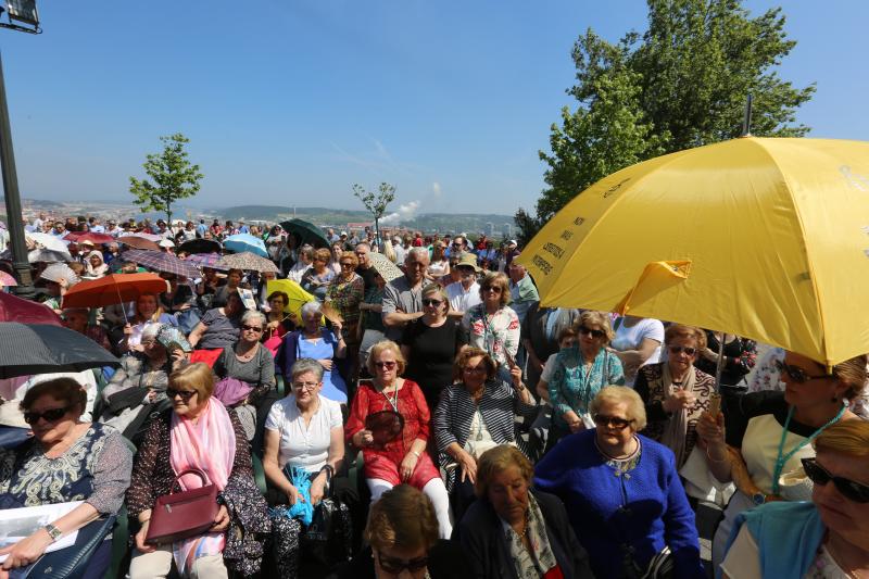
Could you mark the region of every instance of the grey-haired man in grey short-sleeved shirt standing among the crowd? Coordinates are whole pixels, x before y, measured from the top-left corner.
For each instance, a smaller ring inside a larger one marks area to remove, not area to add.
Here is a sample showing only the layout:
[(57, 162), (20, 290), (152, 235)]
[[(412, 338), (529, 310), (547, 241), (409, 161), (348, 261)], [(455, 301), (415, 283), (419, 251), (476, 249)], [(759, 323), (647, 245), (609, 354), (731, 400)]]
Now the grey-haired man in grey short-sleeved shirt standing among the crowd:
[(423, 316), (423, 281), (428, 269), (426, 248), (413, 248), (404, 260), (404, 275), (387, 284), (383, 291), (386, 337), (398, 341), (407, 323)]

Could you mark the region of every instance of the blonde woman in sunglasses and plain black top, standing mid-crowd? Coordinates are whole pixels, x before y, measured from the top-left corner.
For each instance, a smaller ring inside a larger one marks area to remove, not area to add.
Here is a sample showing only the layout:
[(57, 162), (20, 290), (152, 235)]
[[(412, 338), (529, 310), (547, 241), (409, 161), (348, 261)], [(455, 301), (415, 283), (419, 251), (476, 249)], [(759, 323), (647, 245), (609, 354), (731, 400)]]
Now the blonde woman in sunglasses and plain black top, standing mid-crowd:
[(401, 353), (407, 361), (405, 376), (419, 385), (433, 410), (441, 391), (453, 382), (453, 363), (465, 345), (465, 332), (458, 320), (448, 315), (450, 301), (442, 286), (429, 284), (421, 297), (423, 317), (404, 326)]

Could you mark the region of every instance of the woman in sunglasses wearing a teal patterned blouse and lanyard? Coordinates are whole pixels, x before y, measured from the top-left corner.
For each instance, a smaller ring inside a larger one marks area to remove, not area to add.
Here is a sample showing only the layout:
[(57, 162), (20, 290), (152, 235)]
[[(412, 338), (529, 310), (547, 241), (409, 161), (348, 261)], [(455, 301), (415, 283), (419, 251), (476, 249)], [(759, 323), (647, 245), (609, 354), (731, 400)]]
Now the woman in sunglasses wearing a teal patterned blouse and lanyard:
[(549, 381), (552, 428), (546, 448), (564, 436), (592, 428), (589, 405), (601, 388), (625, 383), (621, 362), (606, 347), (613, 338), (609, 316), (583, 312), (576, 322), (577, 343), (556, 354)]

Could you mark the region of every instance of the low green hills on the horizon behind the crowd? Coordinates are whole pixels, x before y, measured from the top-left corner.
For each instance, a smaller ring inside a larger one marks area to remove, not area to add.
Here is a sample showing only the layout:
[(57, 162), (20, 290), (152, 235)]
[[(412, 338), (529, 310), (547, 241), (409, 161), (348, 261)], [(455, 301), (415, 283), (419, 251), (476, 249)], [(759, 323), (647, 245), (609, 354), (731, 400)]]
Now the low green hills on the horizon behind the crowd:
[[(265, 221), (277, 223), (293, 216), (312, 222), (316, 225), (344, 227), (348, 223), (370, 222), (371, 216), (366, 211), (341, 210), (328, 207), (293, 207), (281, 205), (239, 205), (217, 211), (224, 219)], [(487, 232), (512, 235), (516, 227), (512, 215), (498, 215), (486, 213), (423, 213), (400, 224), (411, 229), (424, 231), (459, 232), (468, 234)]]

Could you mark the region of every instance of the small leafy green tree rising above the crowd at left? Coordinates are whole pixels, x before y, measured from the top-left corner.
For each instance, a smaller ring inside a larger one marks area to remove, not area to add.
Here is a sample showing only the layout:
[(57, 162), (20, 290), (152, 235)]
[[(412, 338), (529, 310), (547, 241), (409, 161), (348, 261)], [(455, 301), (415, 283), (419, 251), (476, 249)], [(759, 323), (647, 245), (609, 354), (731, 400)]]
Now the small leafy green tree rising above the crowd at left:
[(142, 166), (153, 179), (129, 178), (129, 192), (142, 211), (165, 211), (166, 221), (172, 226), (172, 204), (179, 199), (193, 197), (199, 191), (203, 175), (199, 165), (191, 165), (185, 144), (190, 139), (176, 133), (160, 137), (163, 152), (149, 154)]

